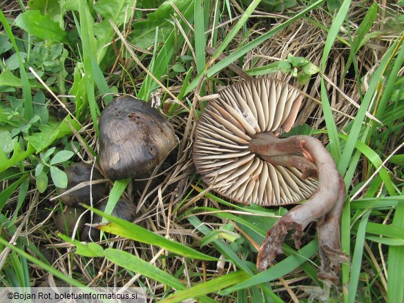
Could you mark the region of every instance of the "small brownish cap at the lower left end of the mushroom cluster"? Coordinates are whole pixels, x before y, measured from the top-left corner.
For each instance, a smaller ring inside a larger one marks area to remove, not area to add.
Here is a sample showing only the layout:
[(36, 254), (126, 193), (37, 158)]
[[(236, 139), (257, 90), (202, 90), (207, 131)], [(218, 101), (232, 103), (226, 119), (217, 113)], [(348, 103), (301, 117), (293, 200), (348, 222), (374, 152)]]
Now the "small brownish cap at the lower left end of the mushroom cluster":
[(69, 237), (71, 237), (73, 235), (75, 225), (77, 224), (77, 222), (79, 222), (77, 226), (77, 234), (80, 234), (84, 228), (84, 224), (86, 224), (88, 220), (88, 215), (83, 215), (80, 218), (84, 211), (86, 210), (83, 208), (73, 208), (66, 206), (66, 208), (62, 211), (59, 211), (59, 213), (57, 213), (55, 217), (55, 225), (57, 230), (60, 233), (69, 235)]

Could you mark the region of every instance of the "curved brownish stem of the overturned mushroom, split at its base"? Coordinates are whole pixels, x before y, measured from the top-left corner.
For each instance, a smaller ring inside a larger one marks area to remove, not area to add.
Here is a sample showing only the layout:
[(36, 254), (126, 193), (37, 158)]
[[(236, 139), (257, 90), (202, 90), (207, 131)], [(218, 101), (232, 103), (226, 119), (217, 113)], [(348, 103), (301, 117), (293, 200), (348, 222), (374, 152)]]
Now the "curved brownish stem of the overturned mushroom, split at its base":
[[(333, 280), (338, 274), (340, 251), (340, 215), (345, 199), (345, 184), (336, 168), (334, 159), (323, 144), (305, 135), (278, 139), (271, 133), (260, 133), (250, 141), (252, 153), (278, 166), (295, 167), (303, 177), (317, 177), (318, 190), (304, 204), (291, 209), (268, 231), (260, 246), (257, 267), (267, 268), (276, 255), (282, 253), (282, 242), (287, 231), (295, 229), (294, 241), (300, 246), (300, 235), (307, 224), (323, 217), (318, 223), (318, 238), (322, 268), (319, 277)], [(337, 264), (336, 264), (337, 263)]]

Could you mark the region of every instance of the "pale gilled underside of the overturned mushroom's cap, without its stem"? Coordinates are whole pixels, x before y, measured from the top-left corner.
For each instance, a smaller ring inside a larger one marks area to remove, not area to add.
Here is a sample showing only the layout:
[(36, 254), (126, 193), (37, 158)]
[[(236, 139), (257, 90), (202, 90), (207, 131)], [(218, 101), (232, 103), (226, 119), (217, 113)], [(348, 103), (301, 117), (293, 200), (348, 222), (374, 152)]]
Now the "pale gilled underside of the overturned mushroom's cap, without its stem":
[(249, 150), (258, 133), (291, 129), (302, 96), (275, 79), (242, 81), (224, 88), (209, 101), (195, 129), (193, 162), (206, 184), (243, 204), (292, 204), (307, 199), (317, 181), (302, 179), (296, 168), (276, 166)]

